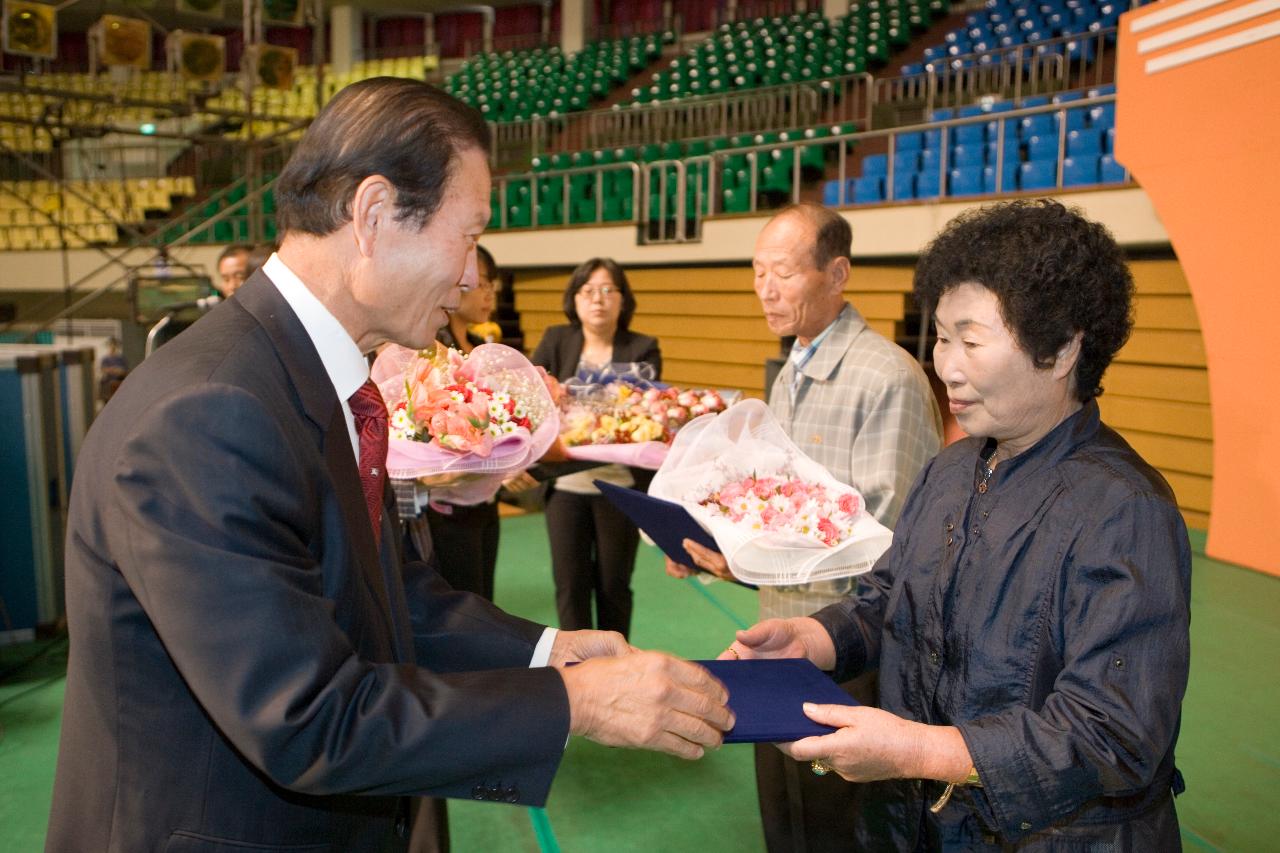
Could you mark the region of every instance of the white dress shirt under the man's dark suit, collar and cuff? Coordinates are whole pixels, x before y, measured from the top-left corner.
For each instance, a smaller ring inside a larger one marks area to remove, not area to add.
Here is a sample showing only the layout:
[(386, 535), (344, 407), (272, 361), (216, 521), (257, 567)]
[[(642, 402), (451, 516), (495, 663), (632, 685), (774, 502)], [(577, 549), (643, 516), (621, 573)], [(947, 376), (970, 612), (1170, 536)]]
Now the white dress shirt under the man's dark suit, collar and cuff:
[[(356, 434), (356, 418), (351, 414), (351, 403), (347, 402), (362, 384), (369, 379), (369, 361), (351, 338), (347, 329), (338, 321), (329, 309), (324, 306), (316, 295), (302, 283), (297, 273), (289, 269), (279, 255), (271, 255), (262, 272), (280, 291), (280, 296), (289, 304), (293, 313), (298, 315), (298, 321), (306, 330), (311, 343), (315, 345), (320, 364), (333, 383), (334, 393), (342, 405), (342, 416), (347, 421), (347, 435), (351, 438), (351, 448), (356, 453), (356, 465), (360, 465), (360, 437)], [(552, 646), (556, 643), (557, 630), (554, 628), (543, 629), (543, 635), (534, 647), (534, 657), (529, 666), (547, 666), (552, 656)]]

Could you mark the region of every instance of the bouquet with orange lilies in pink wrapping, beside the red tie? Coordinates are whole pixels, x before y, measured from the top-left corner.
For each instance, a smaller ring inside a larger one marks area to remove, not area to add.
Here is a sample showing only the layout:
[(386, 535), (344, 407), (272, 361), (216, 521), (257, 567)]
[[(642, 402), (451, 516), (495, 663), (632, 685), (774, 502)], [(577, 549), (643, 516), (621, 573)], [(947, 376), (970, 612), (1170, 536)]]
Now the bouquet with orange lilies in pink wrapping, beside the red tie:
[(463, 356), (436, 346), (390, 346), (371, 377), (387, 402), (387, 473), (396, 479), (462, 474), (433, 498), (472, 505), (530, 465), (556, 441), (559, 420), (545, 371), (500, 343)]

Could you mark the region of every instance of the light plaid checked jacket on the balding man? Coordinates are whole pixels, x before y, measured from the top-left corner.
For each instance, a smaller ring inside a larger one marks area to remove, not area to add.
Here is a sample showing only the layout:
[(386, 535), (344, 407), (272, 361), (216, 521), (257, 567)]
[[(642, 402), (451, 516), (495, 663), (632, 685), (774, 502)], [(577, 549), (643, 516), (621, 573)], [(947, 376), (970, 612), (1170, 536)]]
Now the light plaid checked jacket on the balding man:
[[(938, 452), (942, 416), (920, 365), (845, 304), (831, 333), (800, 368), (791, 359), (769, 391), (769, 410), (791, 439), (892, 528), (911, 484)], [(760, 588), (760, 619), (808, 616), (844, 598), (856, 579)]]

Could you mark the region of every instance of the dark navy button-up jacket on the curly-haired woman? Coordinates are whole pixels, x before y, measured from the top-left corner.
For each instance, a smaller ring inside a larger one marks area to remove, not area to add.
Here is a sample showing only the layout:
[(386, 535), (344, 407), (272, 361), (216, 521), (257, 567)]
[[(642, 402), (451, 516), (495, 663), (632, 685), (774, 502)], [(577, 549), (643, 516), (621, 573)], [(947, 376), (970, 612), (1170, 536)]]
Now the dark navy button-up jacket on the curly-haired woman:
[(1172, 492), (1096, 402), (980, 493), (987, 447), (943, 450), (858, 596), (815, 615), (837, 678), (878, 666), (881, 707), (957, 726), (983, 783), (937, 816), (941, 784), (882, 784), (892, 840), (872, 829), (868, 847), (1057, 849), (1161, 809), (1176, 845), (1190, 548)]

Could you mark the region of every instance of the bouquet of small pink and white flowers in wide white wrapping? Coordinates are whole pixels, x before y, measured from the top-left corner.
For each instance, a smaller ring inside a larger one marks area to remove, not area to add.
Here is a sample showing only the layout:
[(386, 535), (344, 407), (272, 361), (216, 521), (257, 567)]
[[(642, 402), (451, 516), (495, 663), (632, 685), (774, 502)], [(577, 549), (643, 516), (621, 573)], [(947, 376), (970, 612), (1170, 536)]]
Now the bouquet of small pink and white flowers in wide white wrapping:
[(684, 506), (751, 584), (858, 575), (892, 539), (858, 491), (805, 456), (759, 400), (687, 424), (649, 494)]

